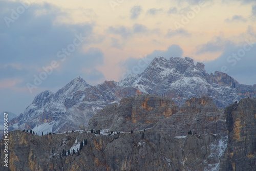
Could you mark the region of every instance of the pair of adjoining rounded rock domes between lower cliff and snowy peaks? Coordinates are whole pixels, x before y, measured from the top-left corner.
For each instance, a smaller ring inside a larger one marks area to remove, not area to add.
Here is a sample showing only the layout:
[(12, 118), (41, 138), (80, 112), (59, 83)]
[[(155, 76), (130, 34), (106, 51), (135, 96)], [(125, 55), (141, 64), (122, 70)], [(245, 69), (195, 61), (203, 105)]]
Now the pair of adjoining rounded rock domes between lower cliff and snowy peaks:
[(188, 99), (179, 108), (172, 99), (157, 95), (136, 95), (107, 106), (89, 121), (89, 129), (130, 132), (154, 127), (172, 136), (225, 134), (223, 110), (211, 98)]

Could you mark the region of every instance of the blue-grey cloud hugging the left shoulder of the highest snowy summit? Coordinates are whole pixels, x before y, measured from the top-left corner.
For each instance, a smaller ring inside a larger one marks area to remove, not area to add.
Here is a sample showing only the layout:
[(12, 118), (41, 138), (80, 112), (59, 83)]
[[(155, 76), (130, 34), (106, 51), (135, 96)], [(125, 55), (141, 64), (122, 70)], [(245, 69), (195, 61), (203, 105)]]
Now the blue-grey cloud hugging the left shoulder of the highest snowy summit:
[[(151, 63), (151, 61), (157, 57), (162, 56), (166, 59), (170, 57), (182, 57), (183, 50), (180, 48), (179, 45), (172, 45), (167, 48), (167, 50), (155, 50), (151, 54), (145, 55), (141, 58), (130, 57), (125, 61), (119, 63), (120, 67), (123, 69), (124, 77), (129, 75), (130, 73), (138, 74), (142, 73), (146, 67)], [(145, 60), (142, 60), (142, 59)], [(134, 68), (136, 67), (136, 72), (134, 72)], [(138, 68), (139, 67), (139, 71)], [(129, 72), (131, 71), (131, 72)]]

